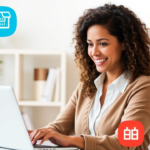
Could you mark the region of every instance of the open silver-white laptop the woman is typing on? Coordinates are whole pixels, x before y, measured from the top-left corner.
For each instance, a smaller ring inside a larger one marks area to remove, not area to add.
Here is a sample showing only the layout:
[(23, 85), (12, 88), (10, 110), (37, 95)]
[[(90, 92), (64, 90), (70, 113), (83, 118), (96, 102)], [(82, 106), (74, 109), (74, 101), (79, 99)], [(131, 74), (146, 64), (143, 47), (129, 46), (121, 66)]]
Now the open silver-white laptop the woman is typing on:
[(0, 150), (79, 150), (76, 147), (32, 145), (15, 94), (0, 86)]

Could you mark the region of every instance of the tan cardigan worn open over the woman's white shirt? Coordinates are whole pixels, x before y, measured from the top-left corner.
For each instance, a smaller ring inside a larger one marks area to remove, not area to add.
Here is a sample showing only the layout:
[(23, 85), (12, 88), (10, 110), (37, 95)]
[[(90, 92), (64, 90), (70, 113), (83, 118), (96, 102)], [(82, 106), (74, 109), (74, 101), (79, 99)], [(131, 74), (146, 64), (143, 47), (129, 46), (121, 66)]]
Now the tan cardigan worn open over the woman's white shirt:
[[(101, 117), (96, 136), (89, 131), (89, 112), (95, 94), (83, 98), (83, 84), (79, 83), (65, 109), (48, 126), (65, 134), (83, 136), (85, 150), (148, 150), (150, 144), (150, 76), (139, 76), (128, 84)], [(145, 137), (138, 147), (124, 147), (118, 141), (118, 126), (125, 120), (137, 120), (144, 126)]]

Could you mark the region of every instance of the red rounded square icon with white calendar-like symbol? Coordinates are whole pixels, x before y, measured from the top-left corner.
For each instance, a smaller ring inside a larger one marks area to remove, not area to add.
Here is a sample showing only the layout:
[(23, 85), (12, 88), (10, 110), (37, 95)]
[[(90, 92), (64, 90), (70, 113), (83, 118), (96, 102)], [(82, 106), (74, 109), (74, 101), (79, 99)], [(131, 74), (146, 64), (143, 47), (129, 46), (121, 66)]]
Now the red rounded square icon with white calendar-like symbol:
[(139, 146), (144, 141), (144, 126), (139, 121), (123, 121), (118, 128), (119, 143), (126, 147)]

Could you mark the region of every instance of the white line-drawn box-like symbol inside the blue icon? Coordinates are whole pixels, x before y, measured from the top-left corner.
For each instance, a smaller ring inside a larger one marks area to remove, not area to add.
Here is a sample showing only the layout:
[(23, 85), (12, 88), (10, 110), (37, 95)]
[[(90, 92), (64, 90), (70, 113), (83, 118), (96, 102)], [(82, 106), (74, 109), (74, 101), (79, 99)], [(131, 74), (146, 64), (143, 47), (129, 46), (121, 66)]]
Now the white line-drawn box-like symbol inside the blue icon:
[(0, 29), (9, 29), (10, 27), (10, 12), (0, 11)]

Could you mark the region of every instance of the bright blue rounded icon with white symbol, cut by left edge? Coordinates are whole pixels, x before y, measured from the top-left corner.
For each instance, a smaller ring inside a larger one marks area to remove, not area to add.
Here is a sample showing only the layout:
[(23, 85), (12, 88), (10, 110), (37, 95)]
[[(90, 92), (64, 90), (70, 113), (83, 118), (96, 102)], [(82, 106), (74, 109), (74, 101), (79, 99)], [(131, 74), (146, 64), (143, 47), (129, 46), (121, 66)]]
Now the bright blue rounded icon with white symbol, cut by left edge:
[(15, 11), (7, 6), (0, 6), (0, 37), (12, 35), (17, 28)]

